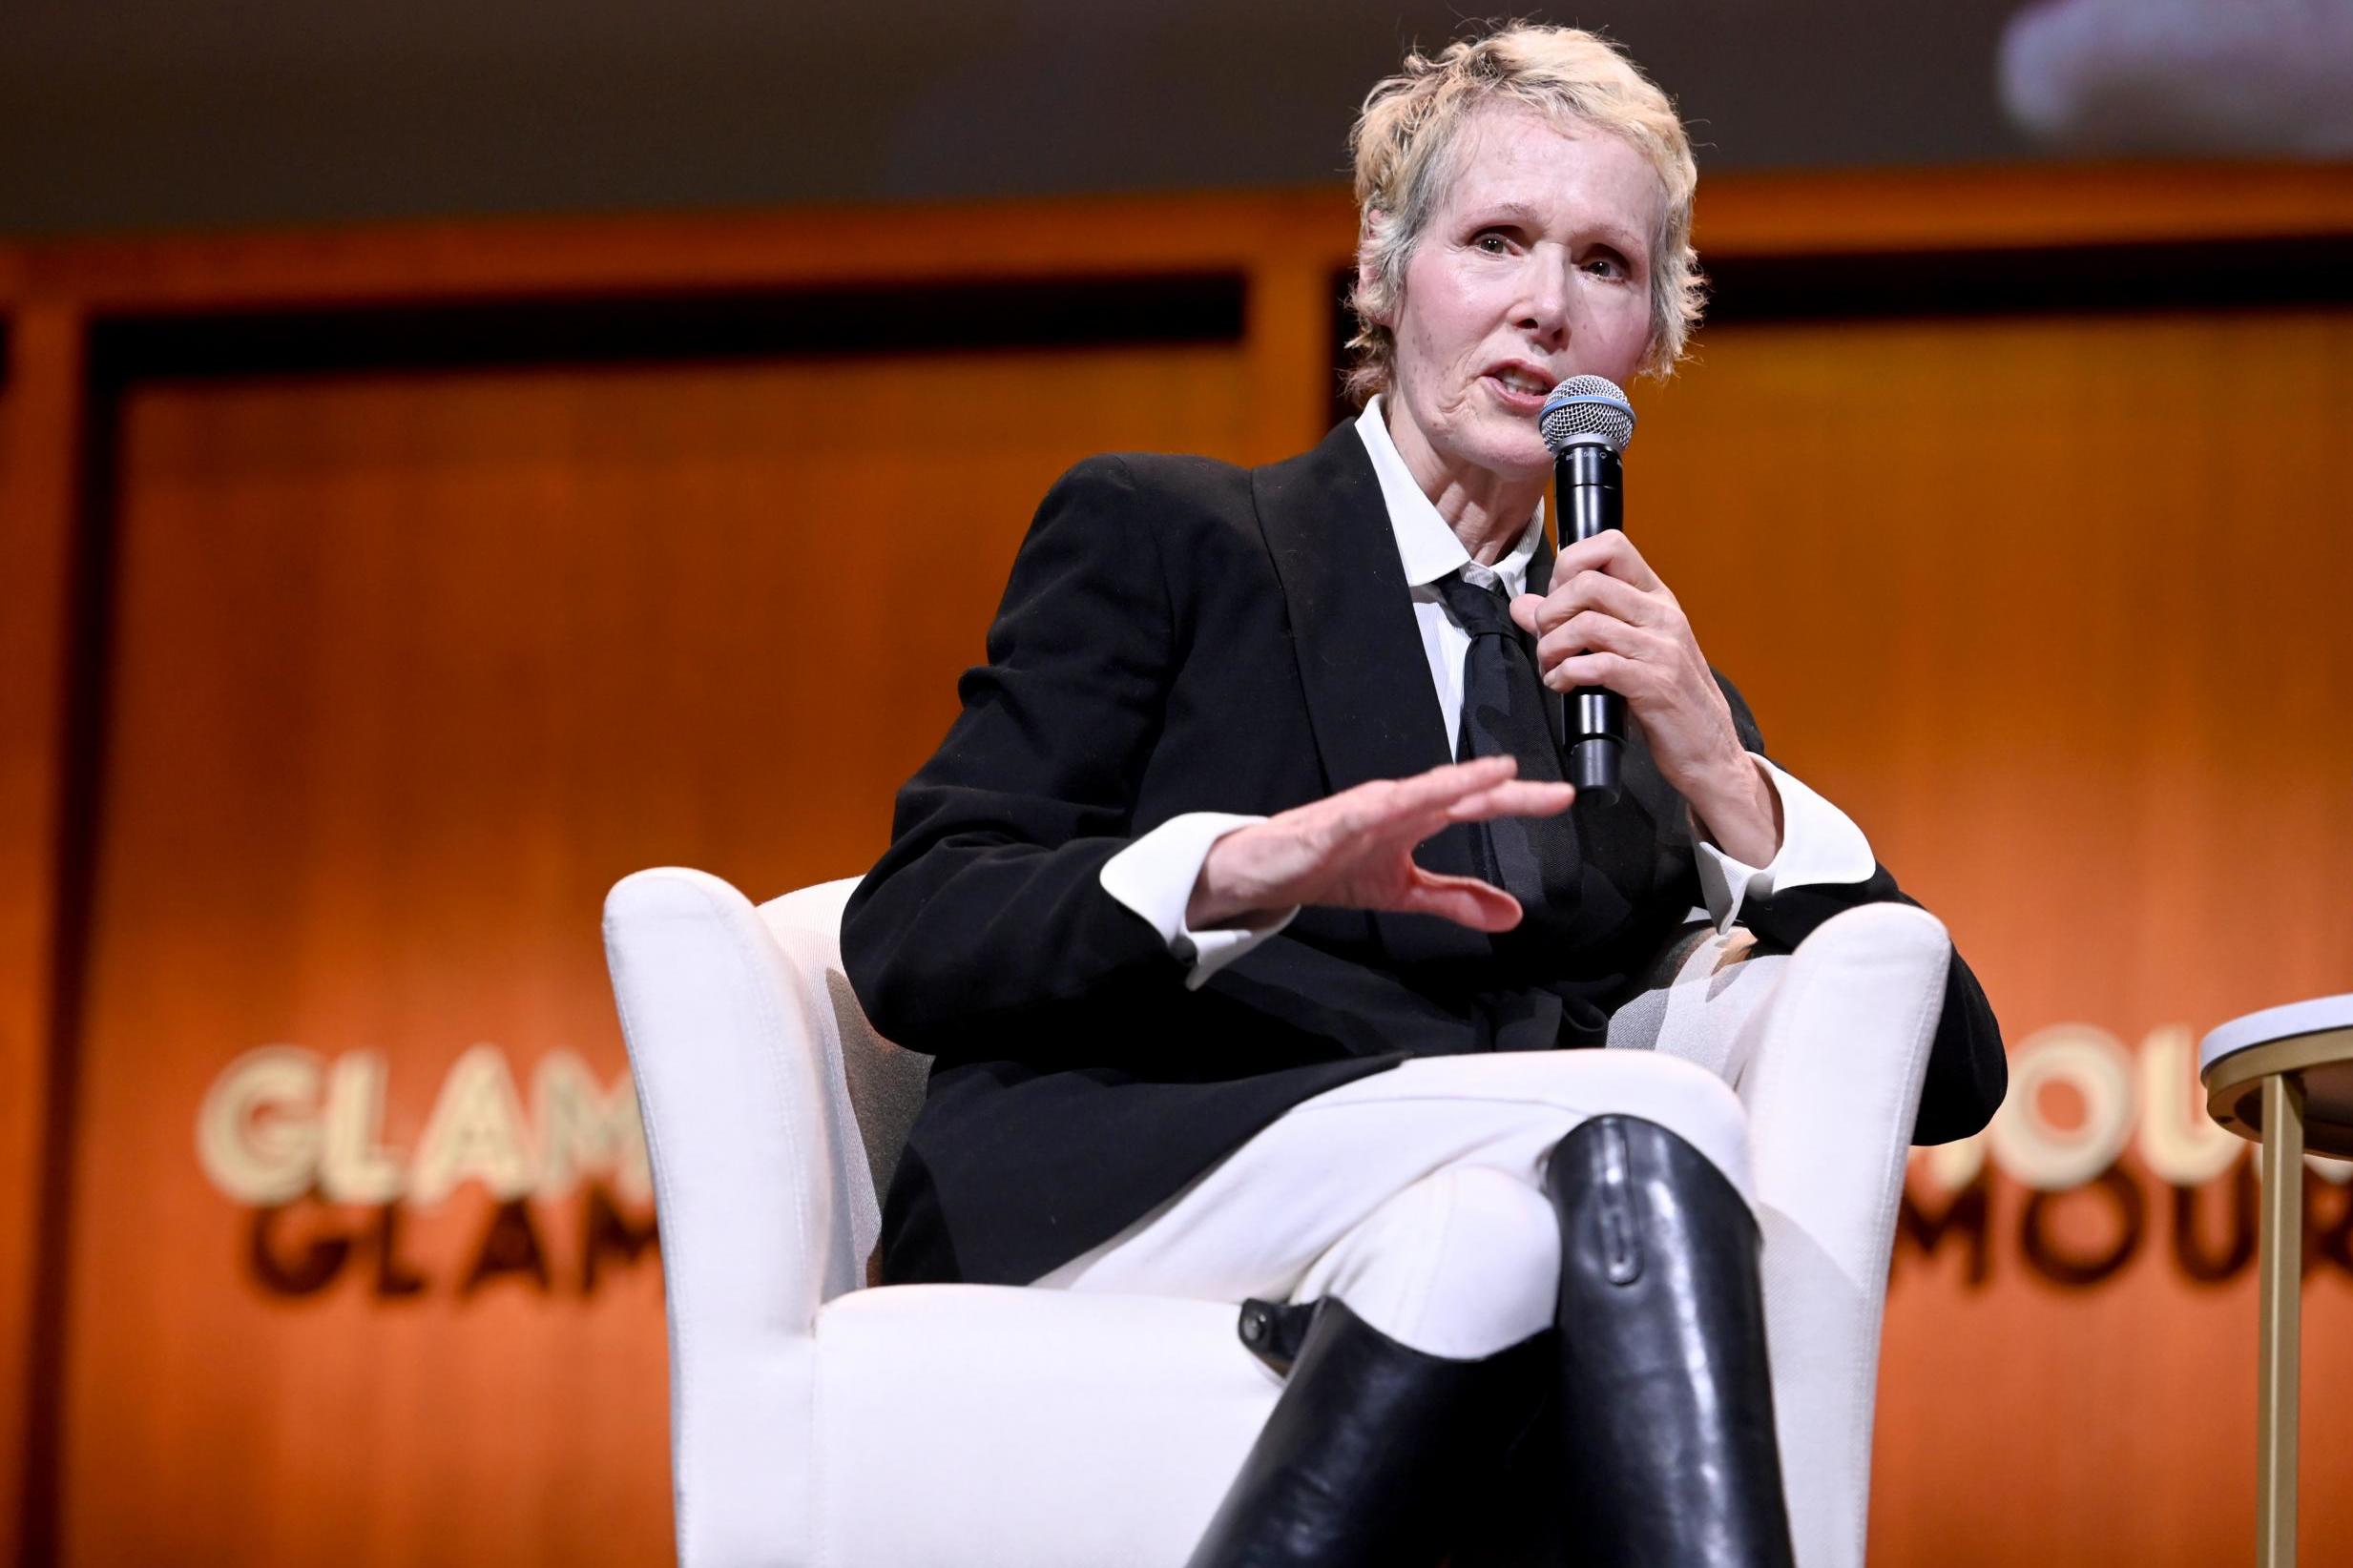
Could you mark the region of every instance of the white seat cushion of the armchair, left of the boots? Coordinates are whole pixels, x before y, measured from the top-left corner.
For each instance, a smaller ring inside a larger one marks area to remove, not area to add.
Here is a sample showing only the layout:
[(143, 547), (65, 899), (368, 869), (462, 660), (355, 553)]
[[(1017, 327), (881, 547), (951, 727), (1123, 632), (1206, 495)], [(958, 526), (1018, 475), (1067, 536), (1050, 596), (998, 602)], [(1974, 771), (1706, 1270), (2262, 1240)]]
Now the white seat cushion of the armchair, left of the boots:
[(1282, 1389), (1233, 1302), (887, 1286), (816, 1340), (828, 1568), (1179, 1568)]

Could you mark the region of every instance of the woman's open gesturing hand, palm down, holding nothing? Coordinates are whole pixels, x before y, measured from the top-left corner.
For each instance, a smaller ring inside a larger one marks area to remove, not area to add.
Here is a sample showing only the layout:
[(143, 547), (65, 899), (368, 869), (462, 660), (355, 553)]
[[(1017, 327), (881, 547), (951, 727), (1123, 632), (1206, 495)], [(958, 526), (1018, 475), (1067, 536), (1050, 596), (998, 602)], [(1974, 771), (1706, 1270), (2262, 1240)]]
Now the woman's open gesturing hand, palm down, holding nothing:
[(1235, 827), (1193, 882), (1186, 924), (1247, 926), (1304, 903), (1438, 914), (1473, 931), (1511, 931), (1520, 900), (1478, 877), (1414, 865), (1414, 846), (1449, 823), (1555, 816), (1577, 790), (1522, 783), (1511, 757), (1449, 762), (1414, 778), (1379, 778)]

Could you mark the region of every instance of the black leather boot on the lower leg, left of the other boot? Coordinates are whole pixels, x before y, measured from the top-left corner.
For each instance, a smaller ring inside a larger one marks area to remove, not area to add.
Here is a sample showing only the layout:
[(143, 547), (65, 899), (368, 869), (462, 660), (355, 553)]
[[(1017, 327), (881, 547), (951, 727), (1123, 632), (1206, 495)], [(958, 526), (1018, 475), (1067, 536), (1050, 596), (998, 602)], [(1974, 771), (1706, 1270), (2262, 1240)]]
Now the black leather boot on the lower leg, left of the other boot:
[(1551, 1338), (1457, 1361), (1391, 1340), (1334, 1295), (1245, 1302), (1242, 1342), (1297, 1361), (1188, 1568), (1435, 1568), (1461, 1481), (1541, 1403)]

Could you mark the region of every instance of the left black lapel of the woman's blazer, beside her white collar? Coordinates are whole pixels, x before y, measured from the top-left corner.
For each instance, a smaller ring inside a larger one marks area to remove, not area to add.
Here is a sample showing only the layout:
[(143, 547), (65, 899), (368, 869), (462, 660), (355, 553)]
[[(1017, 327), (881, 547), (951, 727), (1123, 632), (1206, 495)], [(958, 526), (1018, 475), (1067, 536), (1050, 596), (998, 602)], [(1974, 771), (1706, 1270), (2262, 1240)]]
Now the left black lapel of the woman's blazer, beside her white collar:
[[(1313, 451), (1254, 470), (1252, 496), (1282, 581), (1308, 724), (1332, 790), (1452, 762), (1388, 505), (1355, 425), (1344, 421)], [(1468, 877), (1468, 827), (1447, 827), (1414, 858), (1433, 872)], [(1487, 952), (1485, 936), (1431, 914), (1377, 912), (1372, 922), (1400, 964)]]

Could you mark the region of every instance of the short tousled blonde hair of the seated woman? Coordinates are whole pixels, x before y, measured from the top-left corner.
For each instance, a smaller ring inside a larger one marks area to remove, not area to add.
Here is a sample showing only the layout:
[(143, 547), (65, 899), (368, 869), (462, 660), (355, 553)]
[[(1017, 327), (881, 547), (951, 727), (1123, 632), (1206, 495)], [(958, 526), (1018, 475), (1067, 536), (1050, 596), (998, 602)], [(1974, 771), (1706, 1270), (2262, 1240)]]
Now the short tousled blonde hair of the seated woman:
[[(1355, 155), (1358, 282), (1351, 306), (1348, 397), (1362, 404), (1388, 390), (1398, 341), (1374, 317), (1395, 320), (1405, 263), (1438, 212), (1454, 172), (1454, 141), (1487, 103), (1525, 103), (1555, 122), (1574, 120), (1624, 136), (1659, 172), (1666, 190), (1649, 256), (1649, 348), (1642, 371), (1666, 376), (1699, 322), (1706, 280), (1692, 249), (1692, 195), (1699, 165), (1675, 106), (1607, 38), (1579, 28), (1506, 26), (1447, 45), (1438, 59), (1419, 52), (1365, 94), (1348, 132)], [(1367, 277), (1369, 275), (1369, 277)]]

